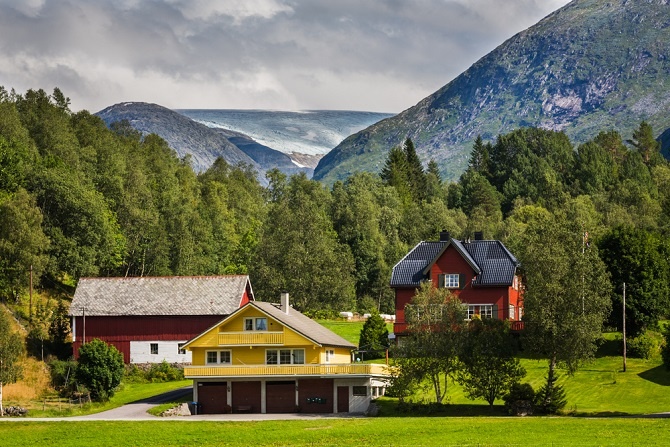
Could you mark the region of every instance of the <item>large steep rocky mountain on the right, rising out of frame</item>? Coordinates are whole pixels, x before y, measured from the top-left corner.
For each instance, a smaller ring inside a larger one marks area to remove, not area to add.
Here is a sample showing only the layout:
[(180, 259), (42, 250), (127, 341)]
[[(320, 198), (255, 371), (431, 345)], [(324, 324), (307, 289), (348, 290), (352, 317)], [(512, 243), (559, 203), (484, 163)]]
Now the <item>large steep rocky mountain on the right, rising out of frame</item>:
[[(414, 107), (351, 135), (321, 159), (325, 183), (378, 172), (388, 150), (412, 138), (445, 178), (467, 166), (477, 135), (520, 127), (564, 131), (575, 143), (646, 120), (670, 127), (668, 0), (574, 0), (504, 42)], [(436, 55), (439, 57), (439, 55)]]

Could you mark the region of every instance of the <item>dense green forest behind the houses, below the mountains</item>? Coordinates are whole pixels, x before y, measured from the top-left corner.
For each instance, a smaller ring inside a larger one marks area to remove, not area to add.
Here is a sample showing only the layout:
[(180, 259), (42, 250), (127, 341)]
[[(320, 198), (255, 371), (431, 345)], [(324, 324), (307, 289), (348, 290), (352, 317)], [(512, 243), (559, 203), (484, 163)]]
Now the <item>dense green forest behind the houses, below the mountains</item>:
[(327, 188), (274, 170), (264, 187), (222, 159), (196, 173), (156, 135), (71, 111), (59, 89), (0, 88), (0, 296), (27, 299), (31, 273), (65, 295), (80, 277), (248, 274), (257, 299), (289, 291), (308, 315), (392, 313), (391, 269), (419, 241), (483, 231), (522, 253), (552, 220), (574, 256), (597, 249), (613, 327), (628, 284), (639, 333), (670, 304), (670, 164), (653, 135), (642, 122), (579, 145), (538, 128), (478, 138), (451, 183), (407, 140), (380, 174)]

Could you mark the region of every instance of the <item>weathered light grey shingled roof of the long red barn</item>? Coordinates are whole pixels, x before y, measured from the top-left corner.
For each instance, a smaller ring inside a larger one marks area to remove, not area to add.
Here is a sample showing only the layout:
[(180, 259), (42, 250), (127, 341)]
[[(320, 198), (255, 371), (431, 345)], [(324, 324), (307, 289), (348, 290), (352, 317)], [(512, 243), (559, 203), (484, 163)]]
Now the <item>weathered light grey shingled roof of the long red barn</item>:
[(229, 315), (240, 307), (246, 275), (81, 278), (70, 315), (178, 316)]

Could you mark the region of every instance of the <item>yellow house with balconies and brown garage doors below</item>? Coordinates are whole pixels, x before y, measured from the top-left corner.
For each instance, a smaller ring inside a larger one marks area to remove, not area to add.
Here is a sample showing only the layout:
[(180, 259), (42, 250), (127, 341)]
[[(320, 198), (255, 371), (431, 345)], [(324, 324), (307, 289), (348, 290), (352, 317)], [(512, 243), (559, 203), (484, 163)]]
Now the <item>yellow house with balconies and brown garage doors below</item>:
[(358, 413), (383, 394), (384, 365), (288, 305), (252, 301), (186, 343), (202, 413)]

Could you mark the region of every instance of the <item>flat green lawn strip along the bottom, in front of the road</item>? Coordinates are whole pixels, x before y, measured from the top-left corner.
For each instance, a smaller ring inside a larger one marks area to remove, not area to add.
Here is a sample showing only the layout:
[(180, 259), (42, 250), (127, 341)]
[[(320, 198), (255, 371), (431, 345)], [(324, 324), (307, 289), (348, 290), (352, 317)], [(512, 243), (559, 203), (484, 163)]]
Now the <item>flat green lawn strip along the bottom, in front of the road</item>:
[(670, 419), (355, 418), (309, 421), (0, 422), (7, 446), (668, 445)]

